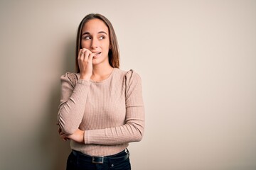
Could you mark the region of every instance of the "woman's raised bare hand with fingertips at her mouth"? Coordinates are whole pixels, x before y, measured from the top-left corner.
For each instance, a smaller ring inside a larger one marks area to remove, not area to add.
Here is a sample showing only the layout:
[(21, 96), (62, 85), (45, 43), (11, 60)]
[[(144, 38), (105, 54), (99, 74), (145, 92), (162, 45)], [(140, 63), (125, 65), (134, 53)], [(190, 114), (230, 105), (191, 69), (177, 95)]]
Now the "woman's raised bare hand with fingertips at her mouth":
[(95, 56), (90, 50), (82, 48), (78, 52), (78, 66), (80, 69), (80, 79), (90, 81), (92, 76), (92, 58)]

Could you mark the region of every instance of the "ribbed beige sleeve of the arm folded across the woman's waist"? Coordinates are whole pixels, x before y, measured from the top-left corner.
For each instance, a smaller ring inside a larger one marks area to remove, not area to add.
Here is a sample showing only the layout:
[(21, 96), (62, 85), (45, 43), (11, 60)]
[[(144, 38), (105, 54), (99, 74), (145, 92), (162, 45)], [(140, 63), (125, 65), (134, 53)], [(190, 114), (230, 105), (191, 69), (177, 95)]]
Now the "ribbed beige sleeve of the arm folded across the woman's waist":
[[(121, 145), (142, 140), (144, 134), (144, 102), (142, 81), (137, 73), (130, 70), (124, 77), (126, 117), (124, 125), (85, 131), (85, 144)], [(115, 116), (119, 116), (118, 114)]]

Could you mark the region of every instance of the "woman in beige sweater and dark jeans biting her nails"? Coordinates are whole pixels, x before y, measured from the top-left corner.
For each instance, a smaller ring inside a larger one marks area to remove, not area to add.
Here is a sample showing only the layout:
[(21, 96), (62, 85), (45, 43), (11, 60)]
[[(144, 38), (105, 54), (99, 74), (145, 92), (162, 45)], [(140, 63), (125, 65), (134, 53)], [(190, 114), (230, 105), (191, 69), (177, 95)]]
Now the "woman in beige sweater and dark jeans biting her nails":
[(142, 140), (144, 103), (137, 73), (119, 69), (114, 28), (100, 14), (78, 27), (76, 71), (60, 78), (60, 137), (71, 140), (67, 169), (131, 169), (129, 142)]

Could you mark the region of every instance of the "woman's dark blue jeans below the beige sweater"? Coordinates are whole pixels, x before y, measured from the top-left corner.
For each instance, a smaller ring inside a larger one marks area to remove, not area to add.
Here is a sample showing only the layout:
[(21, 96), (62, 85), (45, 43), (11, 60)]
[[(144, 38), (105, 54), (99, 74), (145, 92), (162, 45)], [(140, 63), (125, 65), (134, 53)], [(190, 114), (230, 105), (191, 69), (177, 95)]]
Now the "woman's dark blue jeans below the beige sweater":
[[(119, 159), (124, 158), (124, 159)], [(122, 151), (118, 154), (104, 157), (104, 162), (93, 163), (92, 157), (78, 151), (72, 151), (68, 156), (66, 170), (130, 170), (129, 152)], [(102, 159), (99, 159), (102, 161)]]

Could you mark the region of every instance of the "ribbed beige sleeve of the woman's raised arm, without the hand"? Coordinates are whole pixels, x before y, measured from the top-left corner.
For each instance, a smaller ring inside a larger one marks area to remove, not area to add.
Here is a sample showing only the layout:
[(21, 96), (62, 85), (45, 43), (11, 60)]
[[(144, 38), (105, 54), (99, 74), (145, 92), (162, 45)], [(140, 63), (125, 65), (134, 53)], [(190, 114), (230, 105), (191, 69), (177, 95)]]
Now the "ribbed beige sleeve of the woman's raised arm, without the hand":
[(60, 77), (60, 84), (60, 106), (57, 122), (63, 132), (70, 135), (78, 130), (82, 121), (90, 82), (78, 79), (73, 73), (66, 73)]

